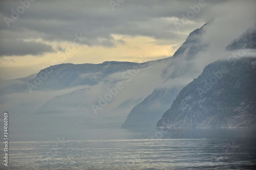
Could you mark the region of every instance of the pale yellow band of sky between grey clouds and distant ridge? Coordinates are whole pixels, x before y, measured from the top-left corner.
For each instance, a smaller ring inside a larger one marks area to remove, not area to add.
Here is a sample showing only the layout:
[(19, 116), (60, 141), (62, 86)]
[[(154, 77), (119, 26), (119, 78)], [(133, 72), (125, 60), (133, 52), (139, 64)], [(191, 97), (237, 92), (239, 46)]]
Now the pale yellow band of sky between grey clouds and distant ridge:
[[(42, 56), (12, 56), (0, 59), (0, 78), (16, 79), (39, 72), (50, 65), (61, 63), (102, 63), (104, 61), (145, 62), (170, 57), (180, 44), (158, 45), (151, 37), (127, 37), (112, 35), (116, 40), (122, 39), (125, 44), (117, 43), (116, 47), (77, 45), (74, 50), (67, 50), (72, 42), (51, 42), (59, 44), (66, 52), (47, 53)], [(45, 42), (49, 43), (49, 42)], [(66, 57), (64, 57), (66, 56)]]

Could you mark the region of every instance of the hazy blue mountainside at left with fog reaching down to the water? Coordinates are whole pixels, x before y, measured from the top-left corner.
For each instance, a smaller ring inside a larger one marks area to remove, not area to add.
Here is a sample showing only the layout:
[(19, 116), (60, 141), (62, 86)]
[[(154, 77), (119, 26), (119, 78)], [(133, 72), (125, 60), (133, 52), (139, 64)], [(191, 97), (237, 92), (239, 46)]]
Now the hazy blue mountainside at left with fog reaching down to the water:
[(161, 83), (170, 59), (58, 64), (26, 78), (1, 80), (0, 110), (12, 113), (12, 129), (120, 128)]

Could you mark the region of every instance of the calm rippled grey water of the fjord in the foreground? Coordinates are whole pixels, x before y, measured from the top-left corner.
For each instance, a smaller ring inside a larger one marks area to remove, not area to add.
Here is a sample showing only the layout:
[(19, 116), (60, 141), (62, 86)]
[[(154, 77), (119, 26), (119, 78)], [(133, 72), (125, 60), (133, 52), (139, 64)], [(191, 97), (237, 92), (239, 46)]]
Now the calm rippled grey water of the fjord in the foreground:
[[(256, 138), (253, 130), (99, 129), (65, 133), (11, 133), (9, 166), (6, 169), (256, 167)], [(3, 144), (0, 146), (4, 148)], [(5, 169), (1, 162), (0, 169)]]

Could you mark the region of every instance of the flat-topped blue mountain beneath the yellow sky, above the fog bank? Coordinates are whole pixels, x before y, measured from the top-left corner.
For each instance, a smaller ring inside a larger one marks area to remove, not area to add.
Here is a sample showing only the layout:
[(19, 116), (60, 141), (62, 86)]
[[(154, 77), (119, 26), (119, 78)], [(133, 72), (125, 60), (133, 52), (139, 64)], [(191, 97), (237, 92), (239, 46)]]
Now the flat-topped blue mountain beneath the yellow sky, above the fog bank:
[(117, 61), (105, 61), (101, 64), (59, 64), (42, 69), (29, 83), (36, 85), (37, 90), (95, 85), (104, 77), (118, 71), (133, 69), (135, 65), (138, 63)]

